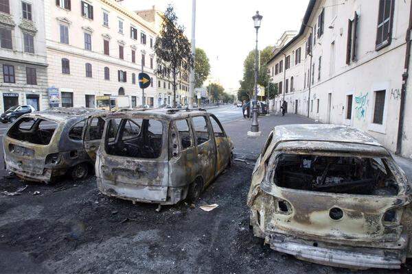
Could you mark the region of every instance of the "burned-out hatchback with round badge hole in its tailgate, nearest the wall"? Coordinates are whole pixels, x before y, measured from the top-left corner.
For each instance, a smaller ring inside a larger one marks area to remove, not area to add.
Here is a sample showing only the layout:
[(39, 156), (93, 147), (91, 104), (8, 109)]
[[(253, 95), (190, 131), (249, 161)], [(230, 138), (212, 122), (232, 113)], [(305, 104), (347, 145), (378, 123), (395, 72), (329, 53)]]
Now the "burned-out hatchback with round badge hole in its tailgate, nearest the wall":
[(412, 255), (411, 185), (387, 149), (352, 127), (273, 129), (247, 199), (253, 234), (301, 260), (397, 269)]

